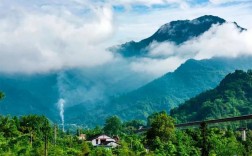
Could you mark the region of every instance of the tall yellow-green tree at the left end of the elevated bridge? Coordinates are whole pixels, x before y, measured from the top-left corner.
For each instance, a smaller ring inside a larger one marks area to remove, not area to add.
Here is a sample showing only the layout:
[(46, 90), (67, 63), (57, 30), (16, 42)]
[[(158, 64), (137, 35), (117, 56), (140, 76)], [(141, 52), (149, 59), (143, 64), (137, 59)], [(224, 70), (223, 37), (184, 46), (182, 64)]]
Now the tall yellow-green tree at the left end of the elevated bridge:
[[(160, 148), (161, 144), (174, 140), (174, 120), (166, 112), (160, 112), (153, 117), (151, 128), (147, 131), (146, 139), (150, 149)], [(157, 144), (155, 144), (157, 143)]]

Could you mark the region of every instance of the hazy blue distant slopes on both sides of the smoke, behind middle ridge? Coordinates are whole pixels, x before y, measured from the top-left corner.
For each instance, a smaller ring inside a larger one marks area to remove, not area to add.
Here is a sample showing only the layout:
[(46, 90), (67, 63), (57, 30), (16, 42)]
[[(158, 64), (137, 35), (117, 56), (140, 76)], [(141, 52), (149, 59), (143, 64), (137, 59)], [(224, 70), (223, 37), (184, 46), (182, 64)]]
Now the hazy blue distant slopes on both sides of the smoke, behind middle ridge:
[[(112, 68), (112, 65), (40, 74), (0, 73), (0, 91), (6, 95), (0, 101), (0, 114), (41, 114), (53, 122), (61, 123), (60, 99), (64, 100), (63, 109), (67, 120), (72, 118), (72, 113), (86, 113), (106, 102), (110, 96), (145, 84), (145, 78), (137, 79), (131, 73), (121, 73), (121, 69)], [(118, 74), (120, 77), (116, 77)], [(125, 82), (132, 83), (125, 86)], [(75, 120), (82, 121), (78, 117)]]

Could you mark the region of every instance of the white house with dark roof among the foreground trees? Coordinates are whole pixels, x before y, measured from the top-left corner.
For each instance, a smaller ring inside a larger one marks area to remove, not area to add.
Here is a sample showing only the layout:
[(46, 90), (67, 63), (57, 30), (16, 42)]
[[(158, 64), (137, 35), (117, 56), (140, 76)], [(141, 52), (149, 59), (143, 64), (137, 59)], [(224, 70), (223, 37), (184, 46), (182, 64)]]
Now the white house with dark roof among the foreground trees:
[(102, 147), (108, 147), (108, 148), (115, 148), (119, 146), (117, 141), (105, 134), (98, 135), (91, 139), (91, 143), (94, 147), (102, 146)]

